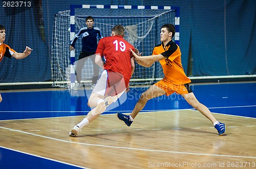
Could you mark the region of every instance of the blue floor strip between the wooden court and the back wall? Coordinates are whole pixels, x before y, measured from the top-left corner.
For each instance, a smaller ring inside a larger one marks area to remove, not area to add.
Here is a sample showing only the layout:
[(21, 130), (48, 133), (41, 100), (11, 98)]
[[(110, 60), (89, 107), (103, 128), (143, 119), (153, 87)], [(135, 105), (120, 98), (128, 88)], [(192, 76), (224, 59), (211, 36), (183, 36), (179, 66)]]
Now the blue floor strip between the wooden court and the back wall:
[[(214, 112), (256, 118), (256, 82), (252, 83), (212, 83), (191, 85), (199, 102)], [(103, 114), (131, 112), (141, 93), (148, 87), (131, 88), (122, 96), (121, 105), (112, 104)], [(245, 93), (244, 89), (250, 89)], [(88, 91), (80, 90), (80, 93)], [(2, 93), (0, 120), (84, 116), (91, 110), (88, 97), (74, 96), (65, 91), (29, 91)], [(14, 104), (15, 103), (15, 104)], [(141, 112), (194, 109), (182, 96), (173, 94), (148, 100)], [(22, 112), (22, 113), (20, 113)]]

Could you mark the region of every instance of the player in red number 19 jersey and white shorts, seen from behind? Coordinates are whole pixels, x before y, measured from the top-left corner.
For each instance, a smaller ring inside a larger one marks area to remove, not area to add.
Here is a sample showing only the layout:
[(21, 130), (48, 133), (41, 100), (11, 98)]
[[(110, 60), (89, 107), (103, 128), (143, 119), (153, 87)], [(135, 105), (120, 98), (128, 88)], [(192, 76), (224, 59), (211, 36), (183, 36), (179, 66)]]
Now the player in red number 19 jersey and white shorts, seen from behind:
[(116, 102), (124, 92), (129, 91), (129, 81), (135, 68), (134, 57), (130, 48), (133, 51), (135, 48), (123, 37), (124, 27), (116, 25), (112, 29), (111, 37), (100, 39), (95, 63), (104, 70), (88, 100), (88, 105), (95, 108), (73, 127), (70, 136), (77, 136), (79, 130), (98, 118), (106, 106)]

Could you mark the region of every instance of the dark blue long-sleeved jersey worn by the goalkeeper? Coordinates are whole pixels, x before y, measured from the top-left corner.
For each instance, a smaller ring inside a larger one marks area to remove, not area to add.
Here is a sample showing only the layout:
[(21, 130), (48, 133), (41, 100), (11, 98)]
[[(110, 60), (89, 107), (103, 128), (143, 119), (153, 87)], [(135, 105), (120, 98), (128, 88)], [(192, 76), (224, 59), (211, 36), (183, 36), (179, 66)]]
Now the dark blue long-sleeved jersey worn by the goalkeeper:
[(74, 39), (71, 41), (71, 46), (75, 48), (75, 42), (82, 37), (82, 51), (86, 52), (96, 52), (97, 49), (97, 38), (103, 38), (98, 27), (82, 27), (75, 35)]

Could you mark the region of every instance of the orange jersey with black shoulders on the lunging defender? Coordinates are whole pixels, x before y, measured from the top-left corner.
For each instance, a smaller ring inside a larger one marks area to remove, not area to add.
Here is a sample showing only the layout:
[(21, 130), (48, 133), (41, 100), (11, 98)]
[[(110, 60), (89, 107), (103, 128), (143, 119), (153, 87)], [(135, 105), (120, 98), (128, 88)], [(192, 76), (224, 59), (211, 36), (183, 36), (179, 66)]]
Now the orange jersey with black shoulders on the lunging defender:
[(163, 68), (163, 80), (169, 81), (173, 85), (184, 85), (191, 82), (182, 67), (180, 47), (176, 43), (170, 41), (165, 48), (163, 43), (159, 44), (154, 47), (152, 54), (162, 54), (166, 58), (159, 61)]

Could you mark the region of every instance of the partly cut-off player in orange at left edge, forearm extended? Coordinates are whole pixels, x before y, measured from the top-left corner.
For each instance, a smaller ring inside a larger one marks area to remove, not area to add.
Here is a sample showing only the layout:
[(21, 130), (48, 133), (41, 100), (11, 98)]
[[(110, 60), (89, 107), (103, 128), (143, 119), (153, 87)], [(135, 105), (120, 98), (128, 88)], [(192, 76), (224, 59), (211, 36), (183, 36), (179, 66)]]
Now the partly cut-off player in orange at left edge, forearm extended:
[[(10, 48), (10, 46), (8, 46), (7, 44), (4, 44), (5, 36), (6, 36), (5, 26), (0, 24), (0, 62), (3, 60), (4, 57), (7, 57), (7, 58), (14, 57), (16, 59), (26, 58), (33, 50), (30, 47), (26, 46), (26, 49), (24, 50), (23, 53), (16, 52), (12, 48)], [(2, 101), (2, 96), (0, 94), (0, 102), (1, 101)]]

